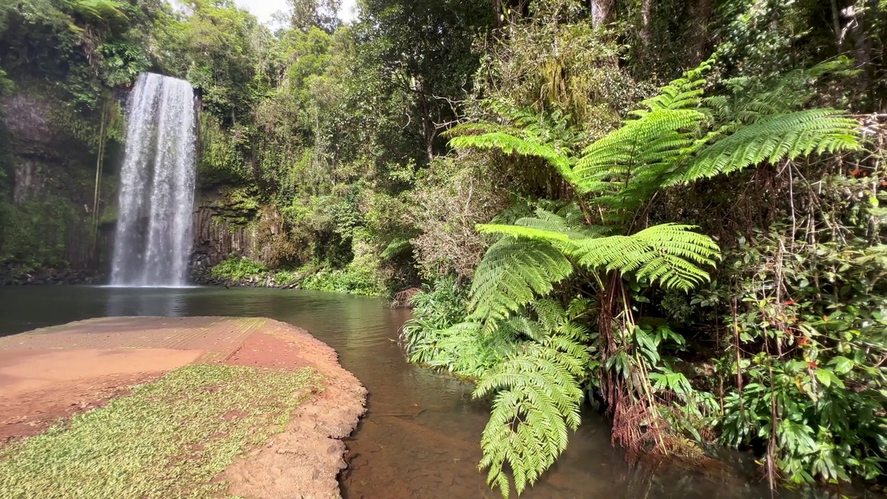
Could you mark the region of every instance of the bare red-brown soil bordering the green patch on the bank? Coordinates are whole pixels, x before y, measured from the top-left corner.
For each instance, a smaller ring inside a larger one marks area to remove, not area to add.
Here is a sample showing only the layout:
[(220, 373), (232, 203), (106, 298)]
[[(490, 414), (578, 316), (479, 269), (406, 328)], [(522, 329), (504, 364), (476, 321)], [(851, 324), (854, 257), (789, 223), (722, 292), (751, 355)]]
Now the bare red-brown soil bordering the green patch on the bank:
[(364, 414), (366, 390), (332, 348), (279, 321), (114, 318), (0, 338), (0, 445), (192, 362), (311, 367), (323, 375), (324, 391), (296, 409), (284, 432), (217, 479), (242, 497), (340, 497), (336, 477), (347, 467), (341, 439)]

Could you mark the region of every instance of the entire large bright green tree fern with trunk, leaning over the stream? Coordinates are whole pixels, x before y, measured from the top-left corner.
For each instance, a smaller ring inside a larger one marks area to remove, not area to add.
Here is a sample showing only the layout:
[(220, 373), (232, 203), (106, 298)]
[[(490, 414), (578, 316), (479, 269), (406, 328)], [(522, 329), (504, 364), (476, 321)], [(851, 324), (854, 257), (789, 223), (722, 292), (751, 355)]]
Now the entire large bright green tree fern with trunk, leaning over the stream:
[[(569, 216), (540, 210), (512, 225), (477, 226), (496, 239), (475, 271), (470, 325), (451, 333), (454, 342), (467, 342), (464, 335), (470, 333), (470, 341), (498, 335), (518, 345), (483, 376), (475, 393), (494, 397), (481, 465), (503, 495), (509, 490), (506, 463), (521, 493), (566, 448), (569, 430), (578, 425), (579, 383), (590, 362), (597, 366), (592, 383), (610, 401), (617, 426), (630, 430), (616, 440), (630, 440), (624, 441), (630, 448), (649, 438), (640, 424), (658, 428), (656, 422), (664, 421), (657, 416), (656, 387), (673, 382), (668, 386), (679, 395), (687, 388), (677, 376), (654, 376), (651, 385), (649, 373), (662, 359), (635, 325), (626, 284), (693, 289), (709, 280), (719, 250), (694, 226), (648, 226), (648, 207), (657, 193), (763, 163), (860, 147), (857, 123), (841, 112), (781, 104), (808, 99), (793, 86), (808, 76), (794, 75), (758, 99), (706, 98), (707, 69), (703, 63), (664, 86), (622, 127), (581, 152), (581, 140), (552, 135), (538, 125), (545, 120), (526, 115), (466, 125), (451, 140), (453, 147), (544, 159), (573, 187), (582, 208)], [(734, 90), (745, 84), (729, 83)], [(594, 341), (600, 358), (593, 360), (574, 321), (576, 311), (546, 299), (577, 268), (591, 276), (581, 286), (594, 289), (599, 302)], [(561, 319), (546, 319), (551, 317)]]

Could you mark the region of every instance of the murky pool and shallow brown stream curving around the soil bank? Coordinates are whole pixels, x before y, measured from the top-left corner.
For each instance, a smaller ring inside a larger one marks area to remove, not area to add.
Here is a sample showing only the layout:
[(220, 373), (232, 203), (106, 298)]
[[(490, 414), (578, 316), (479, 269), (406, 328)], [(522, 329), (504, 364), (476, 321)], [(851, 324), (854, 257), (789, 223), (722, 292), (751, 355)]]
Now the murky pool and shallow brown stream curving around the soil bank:
[[(499, 497), (476, 469), (487, 407), (472, 387), (408, 364), (396, 345), (409, 318), (379, 299), (274, 289), (0, 288), (0, 336), (90, 317), (261, 316), (309, 329), (339, 352), (341, 365), (370, 392), (367, 416), (346, 443), (355, 454), (342, 477), (346, 499)], [(606, 423), (589, 414), (569, 449), (522, 497), (769, 497), (747, 479), (629, 468), (610, 446)]]

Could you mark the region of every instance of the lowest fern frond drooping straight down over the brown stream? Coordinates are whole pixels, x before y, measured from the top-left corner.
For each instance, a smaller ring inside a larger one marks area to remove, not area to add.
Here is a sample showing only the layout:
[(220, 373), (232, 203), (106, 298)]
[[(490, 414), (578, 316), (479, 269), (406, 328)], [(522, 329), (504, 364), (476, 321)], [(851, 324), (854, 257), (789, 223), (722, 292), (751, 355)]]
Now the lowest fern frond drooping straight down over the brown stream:
[(481, 439), (480, 468), (489, 469), (488, 482), (506, 497), (506, 463), (521, 494), (567, 448), (569, 431), (581, 422), (579, 382), (587, 366), (587, 331), (553, 301), (542, 300), (533, 309), (538, 321), (524, 318), (522, 324), (542, 336), (499, 362), (475, 390), (475, 397), (495, 393)]

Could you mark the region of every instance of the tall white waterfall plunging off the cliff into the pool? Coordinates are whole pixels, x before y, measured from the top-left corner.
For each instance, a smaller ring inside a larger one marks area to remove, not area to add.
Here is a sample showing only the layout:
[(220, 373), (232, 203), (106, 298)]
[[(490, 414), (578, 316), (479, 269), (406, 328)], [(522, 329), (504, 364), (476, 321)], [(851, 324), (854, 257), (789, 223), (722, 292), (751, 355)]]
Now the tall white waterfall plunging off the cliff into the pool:
[(143, 73), (130, 97), (114, 240), (114, 286), (184, 286), (192, 246), (192, 86)]

